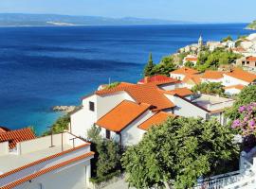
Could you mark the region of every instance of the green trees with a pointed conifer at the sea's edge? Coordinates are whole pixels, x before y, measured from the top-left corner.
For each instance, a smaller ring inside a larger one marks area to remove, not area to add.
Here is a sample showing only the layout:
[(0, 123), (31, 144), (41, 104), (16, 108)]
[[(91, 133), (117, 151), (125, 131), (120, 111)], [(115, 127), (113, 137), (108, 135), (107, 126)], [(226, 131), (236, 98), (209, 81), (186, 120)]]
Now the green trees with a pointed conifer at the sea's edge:
[(172, 56), (164, 57), (160, 63), (154, 64), (152, 60), (152, 54), (148, 63), (144, 68), (144, 77), (152, 77), (155, 75), (169, 76), (169, 73), (174, 71), (176, 65), (174, 64), (174, 58)]

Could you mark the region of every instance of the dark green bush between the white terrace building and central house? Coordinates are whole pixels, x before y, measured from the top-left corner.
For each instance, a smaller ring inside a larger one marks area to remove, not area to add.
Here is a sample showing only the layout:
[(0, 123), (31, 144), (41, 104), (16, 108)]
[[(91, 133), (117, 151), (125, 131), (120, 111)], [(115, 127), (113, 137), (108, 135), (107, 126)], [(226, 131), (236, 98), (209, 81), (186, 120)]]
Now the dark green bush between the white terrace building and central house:
[(88, 140), (92, 143), (92, 150), (96, 152), (91, 164), (95, 172), (93, 179), (96, 183), (110, 180), (119, 175), (121, 170), (119, 144), (113, 140), (102, 139), (101, 129), (93, 126), (87, 131)]

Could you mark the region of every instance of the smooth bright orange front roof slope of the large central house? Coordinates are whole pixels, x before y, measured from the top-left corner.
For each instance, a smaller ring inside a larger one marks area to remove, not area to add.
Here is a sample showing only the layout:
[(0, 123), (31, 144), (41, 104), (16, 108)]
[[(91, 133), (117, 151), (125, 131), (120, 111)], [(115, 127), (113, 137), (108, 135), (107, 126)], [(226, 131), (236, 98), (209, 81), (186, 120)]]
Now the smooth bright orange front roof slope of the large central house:
[(112, 111), (102, 116), (96, 124), (102, 128), (119, 132), (150, 108), (151, 105), (149, 104), (137, 104), (136, 102), (124, 100)]

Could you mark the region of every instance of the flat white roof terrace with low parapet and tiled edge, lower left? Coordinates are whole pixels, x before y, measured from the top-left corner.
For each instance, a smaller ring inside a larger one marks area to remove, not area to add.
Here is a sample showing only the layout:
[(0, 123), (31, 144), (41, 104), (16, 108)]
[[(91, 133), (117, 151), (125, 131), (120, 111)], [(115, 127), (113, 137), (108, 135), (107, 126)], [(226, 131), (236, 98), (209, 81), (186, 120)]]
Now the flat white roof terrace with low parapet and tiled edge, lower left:
[(91, 158), (90, 144), (64, 132), (20, 142), (9, 150), (9, 142), (0, 143), (0, 187), (31, 173), (84, 156)]

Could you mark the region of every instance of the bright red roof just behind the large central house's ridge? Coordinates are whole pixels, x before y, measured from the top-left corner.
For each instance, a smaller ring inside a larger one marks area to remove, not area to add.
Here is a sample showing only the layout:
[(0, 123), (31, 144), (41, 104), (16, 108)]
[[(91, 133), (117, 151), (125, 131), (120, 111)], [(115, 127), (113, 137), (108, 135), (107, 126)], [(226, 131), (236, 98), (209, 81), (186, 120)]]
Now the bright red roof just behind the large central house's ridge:
[[(145, 82), (146, 80), (146, 82)], [(172, 78), (172, 77), (166, 77), (166, 76), (155, 76), (155, 77), (144, 77), (140, 79), (137, 83), (139, 84), (145, 84), (145, 83), (155, 83), (156, 85), (160, 84), (167, 84), (167, 83), (176, 83), (179, 82), (179, 80)]]

